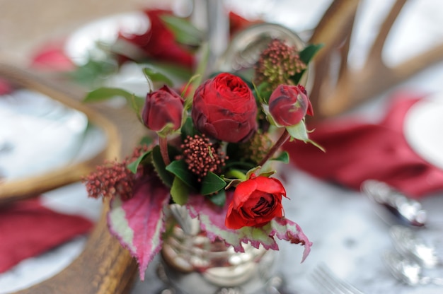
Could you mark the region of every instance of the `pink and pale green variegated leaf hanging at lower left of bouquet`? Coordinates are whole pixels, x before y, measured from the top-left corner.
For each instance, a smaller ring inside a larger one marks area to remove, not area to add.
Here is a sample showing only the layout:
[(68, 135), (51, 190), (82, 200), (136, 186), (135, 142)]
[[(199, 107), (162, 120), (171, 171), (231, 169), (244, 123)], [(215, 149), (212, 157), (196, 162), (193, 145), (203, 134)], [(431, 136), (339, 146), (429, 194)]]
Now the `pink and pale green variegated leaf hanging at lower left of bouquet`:
[(163, 208), (169, 199), (169, 189), (150, 176), (135, 184), (131, 199), (122, 201), (116, 196), (110, 201), (110, 232), (137, 259), (142, 281), (149, 262), (161, 249), (165, 230)]

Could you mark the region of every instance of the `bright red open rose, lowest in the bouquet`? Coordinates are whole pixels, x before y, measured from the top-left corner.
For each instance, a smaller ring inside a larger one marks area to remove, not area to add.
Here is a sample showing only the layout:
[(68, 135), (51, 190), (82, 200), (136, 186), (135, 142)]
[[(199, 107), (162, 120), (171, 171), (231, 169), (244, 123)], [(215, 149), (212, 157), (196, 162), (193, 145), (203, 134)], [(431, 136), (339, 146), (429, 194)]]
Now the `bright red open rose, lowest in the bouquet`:
[(283, 216), (282, 182), (272, 177), (251, 177), (238, 184), (224, 221), (226, 228), (238, 229), (265, 225)]

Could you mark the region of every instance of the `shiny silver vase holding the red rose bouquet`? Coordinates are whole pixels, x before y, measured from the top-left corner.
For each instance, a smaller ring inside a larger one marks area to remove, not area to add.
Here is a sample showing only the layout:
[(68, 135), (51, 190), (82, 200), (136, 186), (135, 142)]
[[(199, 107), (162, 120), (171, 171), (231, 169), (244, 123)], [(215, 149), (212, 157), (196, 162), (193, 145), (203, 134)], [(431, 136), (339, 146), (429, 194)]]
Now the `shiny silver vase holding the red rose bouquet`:
[(267, 293), (275, 252), (243, 245), (244, 252), (222, 240), (212, 242), (183, 206), (170, 206), (175, 225), (163, 242), (158, 274), (166, 283), (161, 293)]

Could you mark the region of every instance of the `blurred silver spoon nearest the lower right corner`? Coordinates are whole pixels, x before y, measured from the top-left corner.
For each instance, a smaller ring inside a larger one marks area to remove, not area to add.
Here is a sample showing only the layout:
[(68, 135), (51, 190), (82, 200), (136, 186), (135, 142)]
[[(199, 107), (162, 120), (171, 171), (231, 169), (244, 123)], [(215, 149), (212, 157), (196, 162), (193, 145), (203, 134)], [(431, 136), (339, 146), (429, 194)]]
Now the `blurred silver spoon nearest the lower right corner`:
[(403, 257), (398, 252), (384, 253), (384, 261), (391, 274), (410, 286), (434, 284), (443, 286), (443, 278), (423, 276), (422, 267), (416, 261)]

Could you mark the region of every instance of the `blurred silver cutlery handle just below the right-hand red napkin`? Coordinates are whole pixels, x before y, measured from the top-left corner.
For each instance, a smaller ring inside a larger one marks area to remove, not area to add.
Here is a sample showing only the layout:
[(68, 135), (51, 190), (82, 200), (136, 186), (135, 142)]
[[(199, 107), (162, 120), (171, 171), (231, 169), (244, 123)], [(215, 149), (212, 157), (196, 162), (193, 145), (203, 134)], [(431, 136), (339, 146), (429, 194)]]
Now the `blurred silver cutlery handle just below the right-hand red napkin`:
[(388, 184), (366, 180), (362, 183), (362, 192), (377, 204), (376, 213), (389, 225), (398, 223), (412, 227), (425, 225), (427, 211), (422, 208), (420, 202), (409, 199)]

